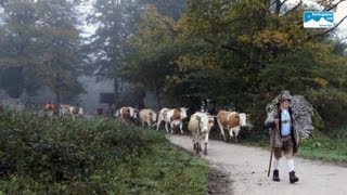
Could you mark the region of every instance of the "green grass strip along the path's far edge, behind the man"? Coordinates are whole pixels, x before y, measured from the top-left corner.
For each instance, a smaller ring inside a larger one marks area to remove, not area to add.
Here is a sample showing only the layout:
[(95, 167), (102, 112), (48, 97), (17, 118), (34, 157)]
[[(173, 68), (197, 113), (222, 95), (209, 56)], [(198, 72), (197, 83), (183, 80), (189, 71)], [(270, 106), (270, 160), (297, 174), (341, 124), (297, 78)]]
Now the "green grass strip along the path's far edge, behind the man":
[[(270, 150), (266, 133), (242, 140), (242, 143)], [(329, 133), (314, 133), (314, 136), (303, 140), (297, 156), (347, 166), (347, 127), (331, 130)]]

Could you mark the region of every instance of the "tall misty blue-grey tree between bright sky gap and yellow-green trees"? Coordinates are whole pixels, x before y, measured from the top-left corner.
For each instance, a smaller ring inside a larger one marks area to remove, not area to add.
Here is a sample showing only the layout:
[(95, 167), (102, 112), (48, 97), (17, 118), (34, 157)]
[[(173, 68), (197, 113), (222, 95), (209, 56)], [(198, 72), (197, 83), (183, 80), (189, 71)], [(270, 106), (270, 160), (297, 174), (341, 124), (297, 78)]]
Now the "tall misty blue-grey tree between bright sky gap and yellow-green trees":
[[(149, 4), (156, 6), (163, 15), (175, 20), (180, 17), (185, 8), (183, 0), (97, 0), (93, 3), (94, 13), (90, 16), (90, 23), (99, 27), (91, 37), (90, 50), (93, 64), (91, 70), (97, 73), (99, 78), (114, 79), (117, 101), (123, 91), (120, 69), (128, 54), (132, 55), (133, 52), (128, 40), (137, 34), (136, 24), (141, 21), (141, 14)], [(137, 86), (133, 87), (139, 89)]]

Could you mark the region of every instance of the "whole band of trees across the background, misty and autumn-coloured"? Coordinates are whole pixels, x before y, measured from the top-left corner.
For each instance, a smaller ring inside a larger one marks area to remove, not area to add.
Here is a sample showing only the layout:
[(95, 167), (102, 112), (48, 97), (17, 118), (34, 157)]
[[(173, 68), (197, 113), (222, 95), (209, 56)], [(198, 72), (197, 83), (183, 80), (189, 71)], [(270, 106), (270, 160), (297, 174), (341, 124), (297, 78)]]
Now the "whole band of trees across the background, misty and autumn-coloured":
[[(340, 126), (346, 44), (336, 28), (303, 27), (303, 11), (331, 11), (340, 2), (1, 1), (0, 88), (18, 94), (44, 84), (72, 98), (83, 91), (77, 81), (83, 73), (113, 79), (117, 106), (134, 106), (150, 91), (159, 106), (198, 108), (208, 99), (216, 107), (250, 113), (254, 121), (290, 90), (308, 98), (326, 127)], [(81, 17), (78, 8), (86, 4), (93, 9)], [(87, 41), (80, 23), (98, 27)]]

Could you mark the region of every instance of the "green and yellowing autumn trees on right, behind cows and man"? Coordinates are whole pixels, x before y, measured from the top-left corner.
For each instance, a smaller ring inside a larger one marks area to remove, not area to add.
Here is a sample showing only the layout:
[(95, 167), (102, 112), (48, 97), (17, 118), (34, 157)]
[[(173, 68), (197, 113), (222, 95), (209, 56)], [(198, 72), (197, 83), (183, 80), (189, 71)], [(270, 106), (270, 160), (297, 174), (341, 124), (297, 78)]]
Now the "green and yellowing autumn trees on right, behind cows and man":
[(346, 44), (334, 37), (335, 28), (303, 27), (305, 10), (336, 4), (190, 0), (179, 20), (146, 6), (121, 74), (158, 100), (198, 107), (209, 99), (216, 107), (250, 113), (256, 127), (262, 127), (266, 104), (290, 90), (313, 104), (325, 127), (340, 126), (347, 114)]

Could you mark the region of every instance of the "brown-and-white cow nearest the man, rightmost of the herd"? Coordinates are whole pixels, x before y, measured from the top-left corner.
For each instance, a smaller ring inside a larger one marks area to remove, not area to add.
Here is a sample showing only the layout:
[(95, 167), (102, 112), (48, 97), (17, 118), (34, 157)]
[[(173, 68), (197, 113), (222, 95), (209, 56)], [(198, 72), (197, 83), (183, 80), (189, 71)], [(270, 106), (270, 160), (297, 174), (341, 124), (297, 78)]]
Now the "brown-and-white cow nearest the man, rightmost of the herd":
[(217, 115), (217, 122), (224, 141), (227, 141), (224, 134), (224, 129), (227, 129), (231, 138), (235, 135), (235, 142), (237, 143), (240, 129), (247, 126), (246, 120), (247, 117), (244, 113), (220, 110)]

